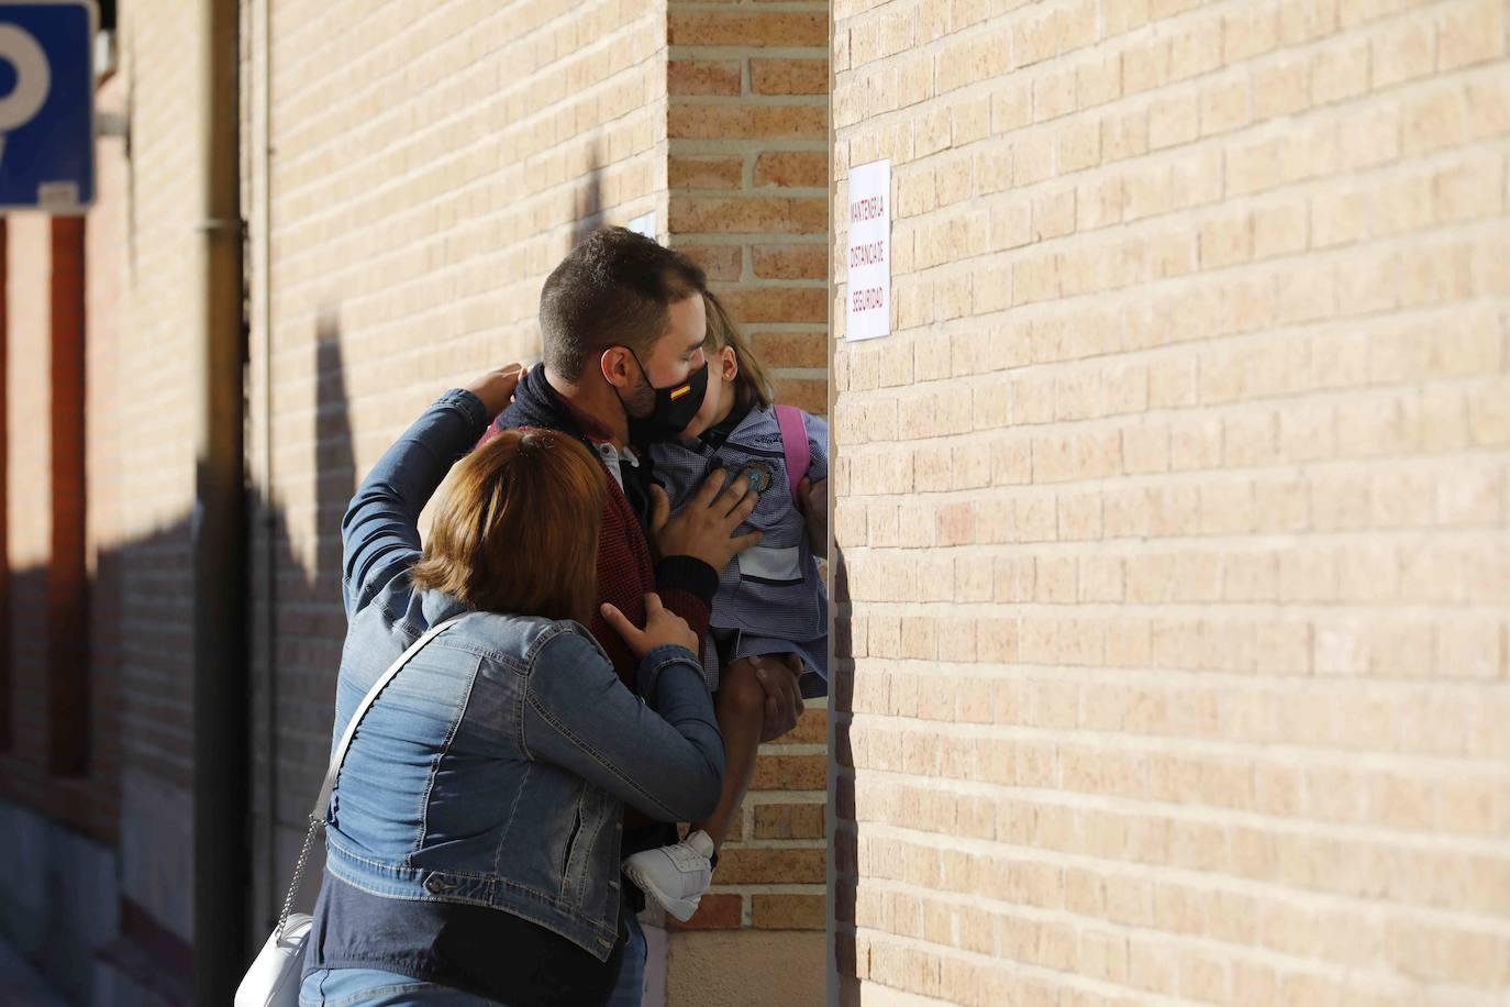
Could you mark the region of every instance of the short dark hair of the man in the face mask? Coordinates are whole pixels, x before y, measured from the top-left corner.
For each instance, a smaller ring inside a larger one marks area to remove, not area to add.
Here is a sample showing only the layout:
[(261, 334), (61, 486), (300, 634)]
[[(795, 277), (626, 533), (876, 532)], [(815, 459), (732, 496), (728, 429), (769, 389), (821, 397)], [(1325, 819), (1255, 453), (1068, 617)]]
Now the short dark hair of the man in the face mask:
[(670, 305), (707, 288), (686, 255), (624, 228), (593, 231), (541, 290), (545, 365), (577, 380), (610, 346), (628, 346), (643, 361), (670, 328)]

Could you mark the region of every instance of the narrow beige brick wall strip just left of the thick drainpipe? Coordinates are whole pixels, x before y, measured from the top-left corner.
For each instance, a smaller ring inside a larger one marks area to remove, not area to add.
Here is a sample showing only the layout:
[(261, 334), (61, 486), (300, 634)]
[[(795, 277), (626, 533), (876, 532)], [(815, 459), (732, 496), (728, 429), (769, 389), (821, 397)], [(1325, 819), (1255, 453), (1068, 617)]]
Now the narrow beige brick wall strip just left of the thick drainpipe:
[[(136, 0), (121, 12), (130, 83), (128, 226), (118, 399), (122, 542), (122, 894), (193, 936), (193, 417), (199, 376), (201, 205), (193, 12)], [(107, 281), (109, 282), (109, 281)]]

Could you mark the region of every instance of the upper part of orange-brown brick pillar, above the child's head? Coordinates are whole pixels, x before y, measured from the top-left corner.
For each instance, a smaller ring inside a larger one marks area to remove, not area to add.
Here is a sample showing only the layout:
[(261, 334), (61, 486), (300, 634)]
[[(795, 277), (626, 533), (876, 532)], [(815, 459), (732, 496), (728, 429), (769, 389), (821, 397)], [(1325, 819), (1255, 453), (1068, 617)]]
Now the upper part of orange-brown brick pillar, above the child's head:
[(708, 270), (778, 397), (827, 412), (827, 5), (669, 9), (669, 240)]

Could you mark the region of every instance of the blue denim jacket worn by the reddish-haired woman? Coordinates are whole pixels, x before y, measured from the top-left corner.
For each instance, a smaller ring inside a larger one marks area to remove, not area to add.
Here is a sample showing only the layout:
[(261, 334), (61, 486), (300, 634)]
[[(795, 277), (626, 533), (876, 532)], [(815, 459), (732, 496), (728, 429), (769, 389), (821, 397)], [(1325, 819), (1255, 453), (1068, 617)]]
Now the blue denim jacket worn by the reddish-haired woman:
[[(347, 634), (335, 737), (379, 675), (465, 608), (417, 592), (420, 510), (488, 415), (450, 391), (384, 454), (341, 524)], [(550, 521), (550, 515), (539, 515)], [(326, 815), (326, 868), (394, 900), (501, 909), (607, 959), (624, 805), (713, 812), (723, 743), (693, 654), (652, 651), (639, 696), (575, 622), (486, 611), (435, 637), (384, 690)]]

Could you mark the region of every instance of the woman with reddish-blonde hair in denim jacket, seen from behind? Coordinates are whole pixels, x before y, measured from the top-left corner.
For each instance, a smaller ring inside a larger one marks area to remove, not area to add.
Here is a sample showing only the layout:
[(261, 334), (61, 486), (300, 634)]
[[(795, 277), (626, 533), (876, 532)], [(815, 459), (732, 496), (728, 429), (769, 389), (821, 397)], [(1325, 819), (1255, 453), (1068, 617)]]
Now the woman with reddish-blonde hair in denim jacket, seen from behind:
[[(300, 1004), (599, 1004), (622, 948), (624, 805), (713, 811), (723, 746), (695, 634), (654, 595), (636, 698), (583, 630), (606, 474), (569, 436), (470, 456), (518, 368), (450, 391), (388, 448), (341, 524), (340, 737), (378, 676), (326, 815)], [(420, 510), (451, 465), (429, 545)], [(642, 701), (643, 699), (643, 701)]]

